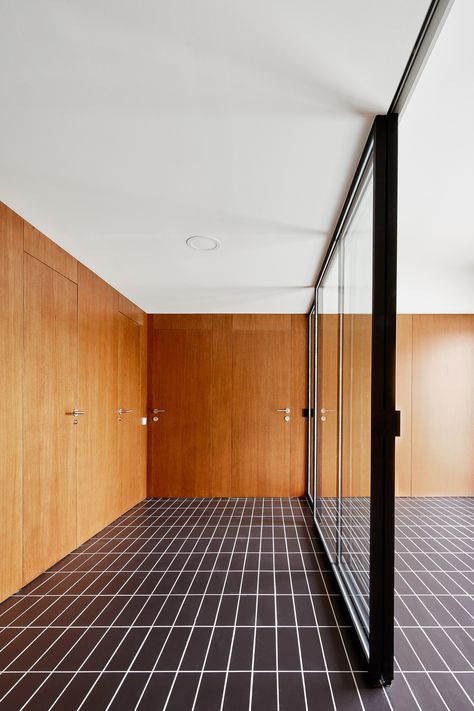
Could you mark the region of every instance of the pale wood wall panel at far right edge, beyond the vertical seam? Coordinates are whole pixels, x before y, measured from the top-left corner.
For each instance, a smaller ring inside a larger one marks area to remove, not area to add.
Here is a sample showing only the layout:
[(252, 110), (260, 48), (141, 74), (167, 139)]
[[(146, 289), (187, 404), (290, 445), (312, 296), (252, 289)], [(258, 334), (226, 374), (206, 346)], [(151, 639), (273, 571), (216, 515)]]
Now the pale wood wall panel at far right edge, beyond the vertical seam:
[(474, 495), (474, 315), (413, 316), (412, 493)]

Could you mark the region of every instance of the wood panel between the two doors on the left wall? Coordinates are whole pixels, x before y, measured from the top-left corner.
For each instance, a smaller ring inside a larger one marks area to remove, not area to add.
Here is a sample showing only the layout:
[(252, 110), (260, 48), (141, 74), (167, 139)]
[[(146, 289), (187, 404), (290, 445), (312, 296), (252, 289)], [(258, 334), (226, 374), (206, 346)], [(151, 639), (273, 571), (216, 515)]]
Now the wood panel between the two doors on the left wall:
[(118, 470), (118, 294), (79, 265), (78, 543), (122, 513)]

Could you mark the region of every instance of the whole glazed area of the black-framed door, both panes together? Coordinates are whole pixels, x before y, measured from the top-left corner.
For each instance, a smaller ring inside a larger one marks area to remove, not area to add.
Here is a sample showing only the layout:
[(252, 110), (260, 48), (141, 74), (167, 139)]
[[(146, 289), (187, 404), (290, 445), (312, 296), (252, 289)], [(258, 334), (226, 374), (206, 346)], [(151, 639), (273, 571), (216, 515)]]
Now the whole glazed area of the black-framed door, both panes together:
[(315, 519), (369, 633), (372, 165), (316, 294)]

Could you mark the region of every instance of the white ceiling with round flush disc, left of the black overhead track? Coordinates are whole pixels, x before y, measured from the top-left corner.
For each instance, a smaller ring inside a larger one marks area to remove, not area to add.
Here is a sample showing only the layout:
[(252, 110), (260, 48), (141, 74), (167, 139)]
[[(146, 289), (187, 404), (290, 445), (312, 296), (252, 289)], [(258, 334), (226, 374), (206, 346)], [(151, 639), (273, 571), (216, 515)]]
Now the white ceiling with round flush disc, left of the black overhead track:
[(149, 312), (304, 312), (428, 5), (2, 0), (0, 199)]

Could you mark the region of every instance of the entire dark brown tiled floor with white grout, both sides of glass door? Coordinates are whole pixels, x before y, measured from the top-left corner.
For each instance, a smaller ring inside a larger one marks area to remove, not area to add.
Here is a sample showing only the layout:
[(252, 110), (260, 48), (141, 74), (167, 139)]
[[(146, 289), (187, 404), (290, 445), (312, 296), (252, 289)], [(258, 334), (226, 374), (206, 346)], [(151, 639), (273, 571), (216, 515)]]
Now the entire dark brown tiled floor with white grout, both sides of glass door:
[(473, 502), (414, 504), (389, 689), (366, 685), (304, 501), (158, 499), (0, 606), (0, 708), (470, 709)]

